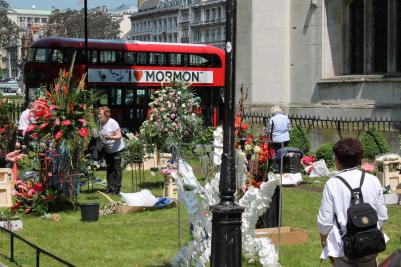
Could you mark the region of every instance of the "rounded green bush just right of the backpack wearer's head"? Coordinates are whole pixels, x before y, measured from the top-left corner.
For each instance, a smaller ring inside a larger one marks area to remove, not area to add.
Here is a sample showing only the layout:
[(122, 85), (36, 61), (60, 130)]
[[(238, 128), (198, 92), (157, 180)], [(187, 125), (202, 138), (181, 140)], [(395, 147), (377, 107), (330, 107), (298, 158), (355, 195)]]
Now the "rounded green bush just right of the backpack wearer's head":
[(374, 159), (376, 155), (390, 151), (386, 139), (377, 128), (370, 128), (361, 136), (361, 143), (364, 149), (364, 158)]

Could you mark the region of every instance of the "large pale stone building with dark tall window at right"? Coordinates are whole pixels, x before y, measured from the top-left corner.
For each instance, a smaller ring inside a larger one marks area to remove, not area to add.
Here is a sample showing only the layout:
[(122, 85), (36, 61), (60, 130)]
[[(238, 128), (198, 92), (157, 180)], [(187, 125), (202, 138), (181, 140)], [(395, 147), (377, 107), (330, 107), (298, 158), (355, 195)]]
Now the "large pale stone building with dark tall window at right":
[(401, 2), (240, 0), (237, 81), (248, 104), (401, 120)]

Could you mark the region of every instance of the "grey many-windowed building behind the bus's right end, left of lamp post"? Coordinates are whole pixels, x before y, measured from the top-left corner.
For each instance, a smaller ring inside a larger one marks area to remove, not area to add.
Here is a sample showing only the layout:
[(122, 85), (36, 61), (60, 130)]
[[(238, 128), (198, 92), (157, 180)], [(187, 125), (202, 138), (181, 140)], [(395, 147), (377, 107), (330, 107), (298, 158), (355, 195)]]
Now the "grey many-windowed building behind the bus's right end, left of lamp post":
[(140, 0), (131, 24), (130, 40), (203, 43), (223, 48), (225, 0)]

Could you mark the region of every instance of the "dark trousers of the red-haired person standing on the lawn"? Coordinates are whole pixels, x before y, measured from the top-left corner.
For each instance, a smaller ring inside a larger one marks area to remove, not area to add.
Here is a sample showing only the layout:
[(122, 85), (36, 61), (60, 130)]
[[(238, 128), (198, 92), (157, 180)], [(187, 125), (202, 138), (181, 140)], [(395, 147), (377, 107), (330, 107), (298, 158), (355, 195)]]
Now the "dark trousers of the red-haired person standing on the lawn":
[(114, 193), (119, 193), (121, 188), (122, 167), (121, 167), (121, 152), (105, 153), (106, 170), (107, 170), (107, 189)]

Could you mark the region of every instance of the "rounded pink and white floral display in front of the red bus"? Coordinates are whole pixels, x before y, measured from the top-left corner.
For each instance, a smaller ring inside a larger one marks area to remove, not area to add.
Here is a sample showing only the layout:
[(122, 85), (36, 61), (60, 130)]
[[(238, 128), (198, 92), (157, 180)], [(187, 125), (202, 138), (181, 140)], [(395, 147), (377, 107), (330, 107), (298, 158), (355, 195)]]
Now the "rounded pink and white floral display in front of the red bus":
[(198, 132), (202, 125), (196, 113), (200, 98), (189, 86), (175, 82), (151, 96), (149, 118), (141, 126), (141, 136), (149, 144), (156, 144), (159, 149), (180, 149), (183, 139)]

